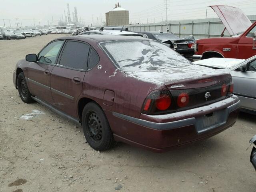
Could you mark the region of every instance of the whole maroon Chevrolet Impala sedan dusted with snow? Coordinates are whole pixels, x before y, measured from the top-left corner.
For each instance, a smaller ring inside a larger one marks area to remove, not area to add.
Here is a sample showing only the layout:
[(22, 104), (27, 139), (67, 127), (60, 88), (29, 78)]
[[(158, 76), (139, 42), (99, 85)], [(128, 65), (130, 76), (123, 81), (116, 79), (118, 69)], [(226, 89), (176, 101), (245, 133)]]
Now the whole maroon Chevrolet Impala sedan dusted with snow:
[(13, 82), (24, 102), (81, 123), (96, 150), (165, 151), (229, 128), (240, 107), (230, 74), (132, 36), (58, 38), (20, 60)]

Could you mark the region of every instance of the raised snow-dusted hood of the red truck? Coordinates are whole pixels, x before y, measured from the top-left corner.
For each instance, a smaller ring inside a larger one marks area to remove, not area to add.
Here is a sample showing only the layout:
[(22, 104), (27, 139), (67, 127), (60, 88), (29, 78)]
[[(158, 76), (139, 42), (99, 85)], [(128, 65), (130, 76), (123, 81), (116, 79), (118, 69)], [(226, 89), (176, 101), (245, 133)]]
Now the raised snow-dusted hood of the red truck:
[(210, 7), (216, 12), (230, 35), (244, 32), (252, 25), (252, 22), (241, 9), (223, 5), (212, 5)]

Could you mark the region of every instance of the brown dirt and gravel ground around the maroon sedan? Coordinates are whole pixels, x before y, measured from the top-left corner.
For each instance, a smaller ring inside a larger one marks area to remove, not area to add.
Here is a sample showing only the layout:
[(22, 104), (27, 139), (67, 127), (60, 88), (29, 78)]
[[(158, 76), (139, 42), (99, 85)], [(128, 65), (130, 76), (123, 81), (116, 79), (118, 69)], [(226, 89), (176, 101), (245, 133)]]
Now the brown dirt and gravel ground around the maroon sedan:
[(0, 41), (0, 192), (256, 191), (246, 151), (256, 134), (253, 115), (241, 113), (232, 128), (162, 154), (122, 143), (98, 152), (81, 127), (24, 104), (12, 83), (16, 62), (60, 36)]

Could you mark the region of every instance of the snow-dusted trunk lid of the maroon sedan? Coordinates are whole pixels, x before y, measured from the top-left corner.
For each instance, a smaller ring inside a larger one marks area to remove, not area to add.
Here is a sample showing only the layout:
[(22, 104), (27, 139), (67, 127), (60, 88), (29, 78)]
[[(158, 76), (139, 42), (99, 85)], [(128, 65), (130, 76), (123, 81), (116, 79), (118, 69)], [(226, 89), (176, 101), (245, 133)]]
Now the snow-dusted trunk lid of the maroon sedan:
[[(167, 86), (170, 90), (201, 88), (223, 82), (230, 78), (230, 74), (198, 65), (186, 65), (158, 70), (125, 72), (129, 76), (144, 81), (157, 82)], [(202, 80), (202, 82), (200, 82)], [(204, 81), (207, 80), (207, 81)]]

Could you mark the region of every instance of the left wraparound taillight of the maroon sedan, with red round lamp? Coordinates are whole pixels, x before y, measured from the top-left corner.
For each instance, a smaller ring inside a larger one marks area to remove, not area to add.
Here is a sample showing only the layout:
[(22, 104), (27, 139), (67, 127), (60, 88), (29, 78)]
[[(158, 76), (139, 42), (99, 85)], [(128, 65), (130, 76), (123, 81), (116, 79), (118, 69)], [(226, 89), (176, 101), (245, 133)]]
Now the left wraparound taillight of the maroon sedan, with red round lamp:
[(169, 91), (152, 91), (142, 106), (144, 114), (163, 114), (173, 111), (176, 111), (176, 107)]

